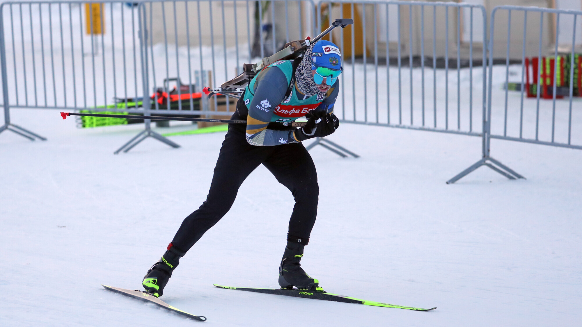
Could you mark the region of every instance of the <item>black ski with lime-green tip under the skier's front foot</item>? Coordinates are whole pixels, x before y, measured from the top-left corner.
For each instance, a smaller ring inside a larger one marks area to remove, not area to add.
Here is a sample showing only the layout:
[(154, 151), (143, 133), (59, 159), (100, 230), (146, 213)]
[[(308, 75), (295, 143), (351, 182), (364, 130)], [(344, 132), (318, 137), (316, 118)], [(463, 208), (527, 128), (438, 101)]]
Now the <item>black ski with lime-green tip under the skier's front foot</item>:
[(359, 298), (354, 298), (354, 297), (349, 297), (349, 296), (344, 296), (344, 295), (339, 295), (339, 294), (327, 293), (325, 291), (313, 291), (313, 290), (301, 290), (301, 289), (292, 289), (292, 290), (289, 290), (289, 289), (257, 289), (257, 288), (247, 288), (247, 287), (222, 286), (222, 285), (218, 285), (218, 284), (214, 284), (214, 286), (220, 287), (221, 289), (241, 290), (241, 291), (257, 292), (257, 293), (265, 293), (265, 294), (276, 294), (276, 295), (285, 295), (285, 296), (293, 296), (293, 297), (303, 297), (303, 298), (314, 298), (315, 300), (336, 301), (336, 302), (345, 302), (345, 303), (357, 303), (357, 304), (364, 304), (364, 305), (372, 305), (374, 307), (399, 308), (399, 309), (408, 309), (408, 310), (416, 310), (416, 311), (429, 311), (429, 310), (436, 309), (436, 307), (430, 308), (430, 309), (403, 307), (402, 305), (396, 305), (396, 304), (388, 304), (388, 303), (360, 300)]

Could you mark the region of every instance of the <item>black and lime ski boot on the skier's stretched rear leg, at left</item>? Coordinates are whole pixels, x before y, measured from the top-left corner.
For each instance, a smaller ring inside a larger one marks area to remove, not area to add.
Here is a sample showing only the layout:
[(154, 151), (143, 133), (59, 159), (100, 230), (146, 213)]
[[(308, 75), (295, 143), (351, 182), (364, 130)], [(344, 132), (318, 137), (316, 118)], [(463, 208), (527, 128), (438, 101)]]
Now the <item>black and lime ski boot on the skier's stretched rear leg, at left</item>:
[(150, 270), (144, 276), (143, 285), (146, 292), (153, 294), (155, 297), (160, 297), (164, 294), (164, 287), (168, 283), (168, 279), (172, 277), (172, 272), (180, 263), (180, 258), (186, 252), (178, 250), (172, 243), (168, 245), (168, 250), (162, 258), (151, 266)]

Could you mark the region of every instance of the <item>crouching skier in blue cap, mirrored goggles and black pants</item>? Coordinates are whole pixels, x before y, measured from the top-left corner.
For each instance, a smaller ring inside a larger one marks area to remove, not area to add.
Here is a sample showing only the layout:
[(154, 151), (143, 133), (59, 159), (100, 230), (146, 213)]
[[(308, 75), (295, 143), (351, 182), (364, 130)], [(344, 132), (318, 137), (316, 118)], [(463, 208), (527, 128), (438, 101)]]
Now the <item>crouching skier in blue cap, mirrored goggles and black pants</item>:
[[(328, 136), (338, 128), (333, 104), (339, 92), (341, 63), (339, 48), (321, 40), (308, 47), (302, 58), (274, 62), (250, 81), (232, 116), (247, 120), (246, 129), (229, 125), (206, 201), (184, 219), (162, 258), (144, 276), (147, 292), (162, 296), (180, 258), (229, 211), (240, 185), (261, 163), (295, 200), (279, 265), (279, 285), (318, 288), (318, 280), (300, 265), (315, 223), (319, 194), (313, 159), (301, 141)], [(303, 116), (308, 118), (306, 126), (290, 127)], [(289, 127), (281, 123), (289, 123)]]

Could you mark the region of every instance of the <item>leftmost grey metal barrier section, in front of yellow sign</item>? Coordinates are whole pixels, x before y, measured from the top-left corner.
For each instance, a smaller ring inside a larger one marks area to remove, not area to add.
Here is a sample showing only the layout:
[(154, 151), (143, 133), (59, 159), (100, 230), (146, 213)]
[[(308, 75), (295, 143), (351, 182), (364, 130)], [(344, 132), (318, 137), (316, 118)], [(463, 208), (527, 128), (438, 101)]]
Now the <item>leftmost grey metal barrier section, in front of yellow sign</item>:
[(141, 112), (140, 26), (139, 6), (121, 1), (2, 3), (5, 129), (44, 139), (10, 123), (9, 108)]

